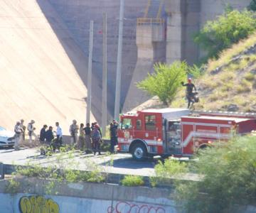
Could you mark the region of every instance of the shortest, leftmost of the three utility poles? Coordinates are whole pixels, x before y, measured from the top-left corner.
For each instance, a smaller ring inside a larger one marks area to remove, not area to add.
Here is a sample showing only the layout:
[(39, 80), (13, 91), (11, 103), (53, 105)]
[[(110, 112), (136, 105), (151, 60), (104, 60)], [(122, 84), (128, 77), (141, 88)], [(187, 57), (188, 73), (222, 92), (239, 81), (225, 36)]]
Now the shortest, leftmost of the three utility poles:
[(86, 123), (90, 124), (90, 111), (92, 102), (92, 46), (93, 46), (93, 21), (90, 21), (90, 44), (89, 44), (89, 62), (87, 75), (87, 111)]

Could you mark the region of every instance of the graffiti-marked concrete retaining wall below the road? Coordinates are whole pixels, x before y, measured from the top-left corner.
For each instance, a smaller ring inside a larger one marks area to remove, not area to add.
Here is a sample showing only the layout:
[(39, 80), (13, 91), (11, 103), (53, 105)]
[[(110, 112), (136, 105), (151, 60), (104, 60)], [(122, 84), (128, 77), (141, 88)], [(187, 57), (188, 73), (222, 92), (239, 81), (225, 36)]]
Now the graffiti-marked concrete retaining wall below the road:
[(35, 208), (51, 207), (54, 213), (178, 212), (178, 207), (169, 198), (170, 190), (165, 189), (82, 182), (59, 185), (56, 188), (58, 195), (45, 195), (43, 181), (31, 179), (22, 190), (11, 196), (4, 194), (5, 185), (6, 180), (0, 181), (0, 212), (5, 213), (22, 212), (33, 203)]

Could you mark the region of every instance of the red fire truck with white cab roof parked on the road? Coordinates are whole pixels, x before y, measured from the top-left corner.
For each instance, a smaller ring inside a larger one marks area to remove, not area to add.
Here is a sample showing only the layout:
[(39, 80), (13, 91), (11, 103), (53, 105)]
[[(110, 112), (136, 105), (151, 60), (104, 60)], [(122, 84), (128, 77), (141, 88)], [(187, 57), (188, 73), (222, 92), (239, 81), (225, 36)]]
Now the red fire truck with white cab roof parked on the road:
[(146, 109), (120, 116), (118, 150), (136, 160), (190, 157), (199, 148), (256, 130), (256, 114), (188, 109)]

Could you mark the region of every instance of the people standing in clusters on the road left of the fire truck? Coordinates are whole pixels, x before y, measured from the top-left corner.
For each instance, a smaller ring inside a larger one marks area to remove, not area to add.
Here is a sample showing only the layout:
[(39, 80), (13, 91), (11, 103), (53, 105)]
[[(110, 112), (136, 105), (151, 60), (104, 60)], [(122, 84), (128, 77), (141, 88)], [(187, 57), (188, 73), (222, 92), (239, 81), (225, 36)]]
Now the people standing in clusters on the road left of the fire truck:
[[(36, 128), (34, 127), (35, 121), (31, 120), (26, 127), (24, 125), (24, 120), (16, 122), (16, 126), (14, 127), (15, 131), (15, 149), (18, 149), (21, 140), (25, 140), (26, 129), (28, 131), (29, 143), (32, 146), (32, 137), (34, 136), (37, 139), (34, 131)], [(114, 153), (114, 146), (117, 145), (117, 129), (118, 123), (113, 120), (110, 124), (110, 151)], [(86, 126), (84, 124), (80, 124), (78, 126), (78, 122), (73, 120), (72, 124), (69, 128), (70, 132), (70, 144), (80, 149), (81, 151), (90, 151), (92, 150), (94, 154), (100, 153), (100, 145), (102, 143), (102, 132), (100, 130), (100, 126), (97, 122), (92, 123), (91, 125), (88, 123)], [(55, 122), (55, 130), (53, 130), (53, 126), (43, 125), (43, 128), (40, 131), (39, 141), (41, 144), (50, 145), (54, 140), (54, 144), (58, 144), (62, 146), (63, 144), (63, 131), (60, 127), (59, 122)], [(54, 148), (55, 149), (55, 148)], [(54, 150), (55, 151), (55, 150)]]

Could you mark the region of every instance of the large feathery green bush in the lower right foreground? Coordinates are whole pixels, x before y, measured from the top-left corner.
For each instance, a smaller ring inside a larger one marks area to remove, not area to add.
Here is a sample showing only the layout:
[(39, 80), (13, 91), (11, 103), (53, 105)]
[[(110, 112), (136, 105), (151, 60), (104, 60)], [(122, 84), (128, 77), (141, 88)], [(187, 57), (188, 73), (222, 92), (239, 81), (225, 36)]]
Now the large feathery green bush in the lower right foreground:
[[(233, 212), (235, 204), (255, 204), (256, 200), (256, 136), (234, 138), (199, 153), (199, 160), (184, 165), (173, 162), (170, 167), (158, 165), (158, 173), (171, 176), (188, 172), (200, 175), (200, 181), (176, 180), (176, 199), (188, 212)], [(174, 165), (175, 164), (175, 165)], [(164, 171), (166, 170), (166, 171)], [(159, 172), (160, 171), (160, 172)]]

